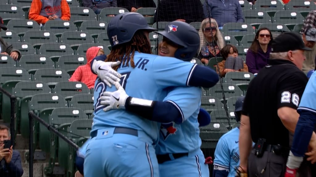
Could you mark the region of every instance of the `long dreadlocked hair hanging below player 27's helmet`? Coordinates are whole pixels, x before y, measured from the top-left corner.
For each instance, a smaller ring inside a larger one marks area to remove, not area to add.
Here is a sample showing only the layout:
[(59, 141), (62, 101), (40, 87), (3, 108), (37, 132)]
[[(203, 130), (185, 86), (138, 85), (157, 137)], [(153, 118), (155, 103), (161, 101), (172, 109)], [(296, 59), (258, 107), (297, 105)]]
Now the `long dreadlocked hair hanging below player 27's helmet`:
[[(134, 63), (134, 54), (135, 51), (138, 51), (140, 53), (145, 53), (145, 54), (151, 54), (151, 47), (150, 43), (147, 39), (147, 37), (144, 34), (143, 30), (138, 30), (135, 32), (133, 38), (131, 41), (127, 43), (123, 43), (118, 46), (114, 46), (110, 52), (106, 56), (106, 62), (107, 61), (121, 61), (121, 65), (125, 65), (125, 62), (127, 62), (126, 66), (128, 65), (128, 62), (131, 61), (131, 66), (134, 68), (135, 63)], [(131, 54), (131, 55), (130, 55)], [(119, 66), (115, 66), (113, 69), (117, 71)]]

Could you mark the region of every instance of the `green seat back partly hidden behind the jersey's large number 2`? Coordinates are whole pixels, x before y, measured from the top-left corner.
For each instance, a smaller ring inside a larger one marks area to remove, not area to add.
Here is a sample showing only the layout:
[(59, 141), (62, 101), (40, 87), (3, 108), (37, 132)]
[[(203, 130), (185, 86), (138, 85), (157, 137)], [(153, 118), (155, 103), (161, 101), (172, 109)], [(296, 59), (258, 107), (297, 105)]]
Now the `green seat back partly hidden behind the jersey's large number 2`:
[(75, 94), (70, 102), (69, 107), (76, 107), (82, 109), (87, 115), (91, 115), (93, 106), (93, 94)]

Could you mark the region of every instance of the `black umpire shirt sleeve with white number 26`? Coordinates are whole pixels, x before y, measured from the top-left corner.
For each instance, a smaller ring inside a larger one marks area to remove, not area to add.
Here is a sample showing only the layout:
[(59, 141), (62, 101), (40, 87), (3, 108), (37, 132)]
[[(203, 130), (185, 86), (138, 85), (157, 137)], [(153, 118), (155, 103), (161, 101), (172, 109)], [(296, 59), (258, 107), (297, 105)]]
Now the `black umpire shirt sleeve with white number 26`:
[(303, 72), (293, 73), (281, 80), (277, 86), (277, 108), (297, 109), (307, 81), (307, 76)]

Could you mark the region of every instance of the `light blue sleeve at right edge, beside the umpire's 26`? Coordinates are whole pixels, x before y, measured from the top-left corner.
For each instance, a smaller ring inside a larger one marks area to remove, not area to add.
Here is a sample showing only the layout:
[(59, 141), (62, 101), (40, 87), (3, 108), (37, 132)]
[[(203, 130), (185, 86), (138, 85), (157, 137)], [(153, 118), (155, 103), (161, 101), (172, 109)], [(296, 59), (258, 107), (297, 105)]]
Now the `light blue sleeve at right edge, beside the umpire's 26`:
[(306, 110), (316, 113), (316, 72), (309, 78), (297, 111)]

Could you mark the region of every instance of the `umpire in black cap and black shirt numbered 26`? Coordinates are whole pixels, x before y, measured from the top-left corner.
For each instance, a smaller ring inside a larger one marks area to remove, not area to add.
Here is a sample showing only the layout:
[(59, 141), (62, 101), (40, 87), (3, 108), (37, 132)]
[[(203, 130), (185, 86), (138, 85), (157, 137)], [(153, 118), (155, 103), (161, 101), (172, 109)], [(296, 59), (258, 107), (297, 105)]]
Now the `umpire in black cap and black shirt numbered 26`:
[[(241, 176), (283, 176), (289, 154), (289, 132), (307, 84), (301, 71), (305, 47), (297, 33), (285, 32), (272, 42), (269, 64), (251, 81), (240, 121)], [(252, 149), (252, 141), (255, 146)]]

